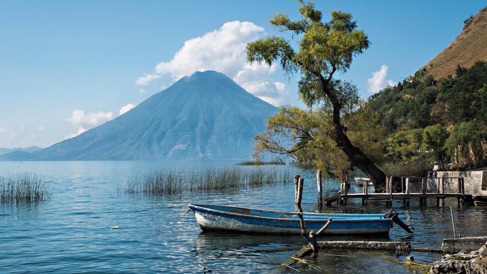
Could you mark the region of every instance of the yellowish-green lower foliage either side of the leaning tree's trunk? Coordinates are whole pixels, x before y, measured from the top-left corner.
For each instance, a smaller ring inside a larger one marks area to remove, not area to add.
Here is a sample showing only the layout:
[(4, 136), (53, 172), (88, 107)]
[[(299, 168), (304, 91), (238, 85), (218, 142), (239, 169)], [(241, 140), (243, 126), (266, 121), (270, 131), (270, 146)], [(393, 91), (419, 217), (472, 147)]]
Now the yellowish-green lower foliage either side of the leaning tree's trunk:
[[(381, 146), (385, 131), (377, 125), (378, 118), (364, 101), (342, 118), (350, 140), (375, 163), (385, 160)], [(352, 166), (332, 139), (333, 134), (332, 116), (325, 108), (281, 108), (268, 119), (265, 132), (255, 137), (254, 157), (258, 159), (263, 153), (291, 157), (300, 164), (313, 164), (332, 176), (340, 176)]]

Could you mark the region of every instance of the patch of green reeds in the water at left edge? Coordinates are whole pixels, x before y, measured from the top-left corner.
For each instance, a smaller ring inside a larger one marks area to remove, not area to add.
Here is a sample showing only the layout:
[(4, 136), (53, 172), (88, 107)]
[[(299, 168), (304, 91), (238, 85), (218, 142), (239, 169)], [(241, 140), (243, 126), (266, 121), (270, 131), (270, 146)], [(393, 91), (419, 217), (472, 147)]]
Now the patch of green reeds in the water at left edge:
[(46, 201), (51, 197), (46, 177), (37, 174), (0, 176), (0, 204)]

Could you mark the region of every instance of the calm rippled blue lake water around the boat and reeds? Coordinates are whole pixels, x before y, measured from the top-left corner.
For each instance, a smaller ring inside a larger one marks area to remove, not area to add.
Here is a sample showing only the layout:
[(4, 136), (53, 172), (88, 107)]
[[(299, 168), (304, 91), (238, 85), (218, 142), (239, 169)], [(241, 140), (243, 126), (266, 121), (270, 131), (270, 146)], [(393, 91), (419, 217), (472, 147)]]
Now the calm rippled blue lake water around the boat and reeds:
[[(289, 272), (279, 268), (289, 256), (307, 242), (300, 236), (240, 235), (203, 232), (192, 214), (158, 232), (187, 210), (187, 203), (219, 203), (293, 211), (294, 184), (272, 185), (225, 191), (195, 192), (177, 196), (127, 195), (117, 193), (120, 183), (131, 173), (150, 170), (202, 170), (231, 167), (233, 162), (0, 162), (0, 175), (37, 173), (52, 181), (51, 201), (37, 204), (0, 205), (0, 272), (103, 272), (103, 273), (214, 273)], [(241, 168), (259, 168), (239, 166)], [(295, 166), (290, 174), (304, 177), (303, 209), (317, 211), (316, 170)], [(361, 175), (361, 174), (356, 174)], [(326, 195), (336, 193), (339, 184), (323, 183)], [(352, 184), (352, 192), (359, 187)], [(444, 237), (452, 236), (450, 205), (456, 231), (462, 236), (487, 235), (487, 210), (472, 205), (457, 207), (446, 200), (445, 207), (429, 201), (420, 207), (412, 200), (410, 208), (402, 202), (393, 207), (399, 217), (411, 223), (415, 233), (407, 239), (414, 247), (439, 248)], [(323, 207), (322, 212), (384, 213), (384, 203), (349, 201), (346, 207)], [(120, 229), (111, 230), (118, 225)], [(395, 226), (389, 237), (334, 236), (330, 240), (403, 240), (407, 237)], [(321, 239), (324, 239), (322, 237)], [(340, 256), (337, 256), (340, 255)], [(437, 255), (412, 254), (419, 262)], [(405, 273), (403, 265), (384, 261), (389, 254), (325, 253), (317, 263), (323, 273)], [(399, 257), (405, 260), (404, 256)], [(302, 270), (309, 270), (303, 267)]]

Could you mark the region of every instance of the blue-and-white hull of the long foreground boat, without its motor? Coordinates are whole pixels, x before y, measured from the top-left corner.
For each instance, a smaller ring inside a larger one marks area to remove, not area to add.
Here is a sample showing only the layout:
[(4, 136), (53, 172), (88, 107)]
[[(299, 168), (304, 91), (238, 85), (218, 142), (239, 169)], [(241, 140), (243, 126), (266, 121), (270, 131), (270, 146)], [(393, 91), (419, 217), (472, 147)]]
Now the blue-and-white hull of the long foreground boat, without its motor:
[[(232, 214), (189, 205), (198, 225), (203, 230), (225, 230), (264, 234), (301, 234), (300, 220), (289, 218), (268, 218)], [(308, 230), (318, 231), (328, 221), (323, 215), (320, 218), (306, 216), (304, 221)], [(333, 216), (330, 216), (334, 218)], [(391, 219), (381, 218), (339, 218), (333, 219), (324, 234), (388, 234), (392, 227)]]

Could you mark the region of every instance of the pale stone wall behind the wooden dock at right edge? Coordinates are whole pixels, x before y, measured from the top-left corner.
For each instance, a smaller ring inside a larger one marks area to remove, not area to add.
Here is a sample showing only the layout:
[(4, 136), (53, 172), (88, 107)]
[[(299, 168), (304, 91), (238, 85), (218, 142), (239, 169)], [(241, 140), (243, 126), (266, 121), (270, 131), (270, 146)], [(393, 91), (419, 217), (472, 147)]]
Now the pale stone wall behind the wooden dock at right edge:
[[(487, 195), (487, 171), (438, 171), (437, 177), (464, 177), (465, 193), (483, 193)], [(435, 188), (434, 179), (428, 180), (428, 190)], [(458, 189), (457, 179), (445, 179), (445, 192), (456, 193)]]

